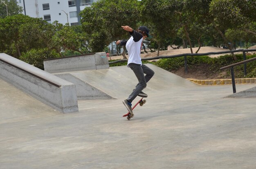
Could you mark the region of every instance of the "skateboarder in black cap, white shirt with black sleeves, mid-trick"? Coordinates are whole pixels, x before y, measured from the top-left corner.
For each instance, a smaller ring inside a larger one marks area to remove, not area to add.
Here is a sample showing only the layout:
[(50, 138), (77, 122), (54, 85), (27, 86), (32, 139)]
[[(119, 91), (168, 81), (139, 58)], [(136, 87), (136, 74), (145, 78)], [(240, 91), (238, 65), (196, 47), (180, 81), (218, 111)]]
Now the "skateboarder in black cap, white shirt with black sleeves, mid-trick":
[[(129, 40), (118, 40), (116, 44), (120, 44), (121, 46), (126, 45), (126, 49), (128, 50), (128, 63), (127, 66), (132, 69), (134, 74), (136, 75), (139, 83), (137, 84), (136, 88), (132, 91), (128, 99), (123, 101), (124, 105), (126, 106), (127, 110), (132, 113), (132, 101), (137, 97), (148, 97), (148, 95), (142, 90), (146, 88), (147, 82), (153, 77), (155, 72), (148, 68), (146, 65), (142, 64), (140, 52), (142, 41), (146, 37), (151, 37), (149, 35), (149, 30), (146, 26), (140, 26), (137, 31), (130, 28), (130, 26), (121, 26), (125, 31), (128, 31), (130, 35)], [(146, 74), (144, 76), (144, 74)]]

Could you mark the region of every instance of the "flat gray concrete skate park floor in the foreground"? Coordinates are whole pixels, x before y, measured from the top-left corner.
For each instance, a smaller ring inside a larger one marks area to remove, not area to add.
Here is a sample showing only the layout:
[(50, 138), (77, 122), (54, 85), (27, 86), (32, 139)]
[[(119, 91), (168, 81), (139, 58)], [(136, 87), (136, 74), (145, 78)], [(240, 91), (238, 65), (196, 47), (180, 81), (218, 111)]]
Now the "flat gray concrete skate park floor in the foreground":
[(149, 82), (128, 121), (126, 98), (81, 100), (62, 114), (0, 79), (0, 169), (254, 169), (255, 98), (185, 83), (157, 92)]

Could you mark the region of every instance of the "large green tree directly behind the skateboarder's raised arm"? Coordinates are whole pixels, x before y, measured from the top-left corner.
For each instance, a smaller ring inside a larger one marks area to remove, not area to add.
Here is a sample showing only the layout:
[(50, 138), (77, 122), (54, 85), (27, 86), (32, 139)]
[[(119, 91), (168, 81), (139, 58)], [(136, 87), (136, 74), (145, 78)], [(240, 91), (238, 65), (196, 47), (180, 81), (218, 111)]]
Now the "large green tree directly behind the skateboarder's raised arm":
[(99, 0), (81, 13), (84, 32), (89, 36), (93, 52), (103, 51), (105, 46), (129, 34), (121, 26), (137, 27), (139, 21), (137, 0)]

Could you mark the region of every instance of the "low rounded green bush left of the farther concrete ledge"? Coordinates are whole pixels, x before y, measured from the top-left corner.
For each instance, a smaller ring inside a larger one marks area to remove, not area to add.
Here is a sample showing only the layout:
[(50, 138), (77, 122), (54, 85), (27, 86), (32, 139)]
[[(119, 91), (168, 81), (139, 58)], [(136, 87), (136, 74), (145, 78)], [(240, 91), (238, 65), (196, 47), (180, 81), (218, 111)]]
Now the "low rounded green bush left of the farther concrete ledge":
[(60, 57), (55, 50), (43, 49), (31, 49), (27, 53), (22, 53), (20, 60), (27, 62), (37, 68), (44, 69), (43, 60), (50, 58)]

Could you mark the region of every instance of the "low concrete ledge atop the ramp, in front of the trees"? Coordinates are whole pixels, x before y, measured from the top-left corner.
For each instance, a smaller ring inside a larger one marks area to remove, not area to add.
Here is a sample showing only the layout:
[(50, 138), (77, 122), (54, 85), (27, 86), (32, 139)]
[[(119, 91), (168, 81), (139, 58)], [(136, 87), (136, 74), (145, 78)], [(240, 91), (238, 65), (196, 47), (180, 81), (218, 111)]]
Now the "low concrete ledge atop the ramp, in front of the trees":
[(83, 56), (61, 57), (44, 60), (45, 71), (49, 73), (72, 72), (79, 70), (107, 69), (108, 58), (105, 52)]

